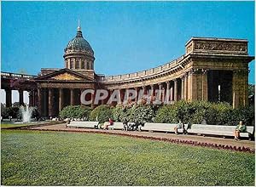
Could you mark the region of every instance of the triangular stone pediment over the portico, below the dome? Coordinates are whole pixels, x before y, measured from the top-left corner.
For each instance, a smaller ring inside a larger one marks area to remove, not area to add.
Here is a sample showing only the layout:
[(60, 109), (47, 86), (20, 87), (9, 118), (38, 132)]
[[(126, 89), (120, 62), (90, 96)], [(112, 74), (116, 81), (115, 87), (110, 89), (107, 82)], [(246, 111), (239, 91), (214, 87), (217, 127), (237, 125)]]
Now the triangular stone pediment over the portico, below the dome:
[(37, 80), (56, 80), (56, 81), (93, 81), (79, 72), (69, 69), (54, 71), (44, 76), (38, 77)]

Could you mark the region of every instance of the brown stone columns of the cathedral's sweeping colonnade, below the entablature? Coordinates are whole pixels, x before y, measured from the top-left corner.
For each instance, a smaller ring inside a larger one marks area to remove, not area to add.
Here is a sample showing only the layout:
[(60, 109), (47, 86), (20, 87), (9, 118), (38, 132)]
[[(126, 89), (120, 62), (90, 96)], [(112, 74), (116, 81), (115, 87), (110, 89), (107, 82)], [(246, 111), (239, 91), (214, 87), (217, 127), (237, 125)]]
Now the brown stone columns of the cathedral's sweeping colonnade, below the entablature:
[[(170, 81), (156, 82), (142, 86), (142, 82), (138, 82), (139, 86), (132, 88), (122, 88), (115, 85), (111, 88), (110, 85), (104, 85), (108, 90), (108, 98), (100, 100), (98, 104), (94, 103), (95, 94), (86, 94), (85, 99), (92, 100), (89, 105), (94, 108), (96, 105), (117, 105), (117, 102), (108, 102), (113, 91), (118, 90), (120, 104), (125, 102), (138, 102), (141, 99), (141, 90), (143, 94), (150, 98), (150, 102), (157, 99), (163, 104), (172, 104), (180, 99), (206, 100), (212, 102), (225, 101), (233, 105), (234, 108), (240, 105), (247, 105), (247, 70), (238, 71), (218, 71), (206, 69), (193, 69), (184, 72), (180, 77), (176, 77)], [(29, 92), (29, 105), (38, 106), (38, 111), (42, 116), (57, 116), (59, 111), (67, 105), (82, 105), (80, 96), (87, 88), (32, 88), (25, 90), (18, 89), (19, 103), (24, 105), (24, 91)], [(81, 86), (82, 87), (82, 86)], [(93, 88), (91, 86), (91, 88)], [(136, 90), (136, 97), (132, 99), (125, 98), (125, 92), (128, 89)], [(159, 90), (157, 93), (156, 90)], [(95, 89), (96, 91), (96, 89)], [(12, 105), (12, 89), (5, 88), (6, 106)], [(148, 101), (148, 99), (147, 99)]]

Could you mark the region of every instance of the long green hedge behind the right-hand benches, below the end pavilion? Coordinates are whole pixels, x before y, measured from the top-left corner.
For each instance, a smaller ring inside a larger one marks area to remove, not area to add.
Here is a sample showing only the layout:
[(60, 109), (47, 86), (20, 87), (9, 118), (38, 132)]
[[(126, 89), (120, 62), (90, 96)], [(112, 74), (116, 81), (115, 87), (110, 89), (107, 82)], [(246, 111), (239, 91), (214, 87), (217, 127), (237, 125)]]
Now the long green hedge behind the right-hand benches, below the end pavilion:
[(173, 105), (164, 105), (157, 111), (155, 122), (201, 123), (206, 120), (212, 125), (236, 125), (244, 121), (253, 125), (253, 106), (233, 109), (228, 103), (211, 103), (206, 101), (186, 102), (180, 100)]

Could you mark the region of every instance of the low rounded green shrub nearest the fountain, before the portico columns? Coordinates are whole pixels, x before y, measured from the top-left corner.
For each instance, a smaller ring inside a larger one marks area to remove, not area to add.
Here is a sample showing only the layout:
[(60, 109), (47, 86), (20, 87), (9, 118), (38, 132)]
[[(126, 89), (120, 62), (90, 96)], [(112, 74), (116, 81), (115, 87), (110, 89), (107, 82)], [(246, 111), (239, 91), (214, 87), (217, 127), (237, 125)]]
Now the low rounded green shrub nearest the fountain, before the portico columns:
[(83, 105), (68, 105), (64, 107), (59, 116), (61, 118), (88, 118), (90, 116), (90, 107)]

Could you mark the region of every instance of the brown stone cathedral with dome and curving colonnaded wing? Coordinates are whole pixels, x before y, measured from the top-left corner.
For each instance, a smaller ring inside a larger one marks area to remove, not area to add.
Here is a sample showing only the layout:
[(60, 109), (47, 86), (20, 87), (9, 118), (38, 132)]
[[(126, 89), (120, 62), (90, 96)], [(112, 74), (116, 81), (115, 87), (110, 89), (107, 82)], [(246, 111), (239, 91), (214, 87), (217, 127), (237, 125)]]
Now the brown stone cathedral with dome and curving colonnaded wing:
[[(148, 70), (105, 77), (95, 73), (94, 51), (79, 26), (64, 49), (63, 69), (42, 68), (38, 76), (1, 72), (2, 88), (7, 106), (12, 105), (12, 90), (19, 91), (20, 105), (23, 92), (28, 91), (29, 105), (38, 106), (41, 116), (58, 116), (67, 105), (82, 105), (80, 95), (86, 89), (105, 89), (109, 94), (118, 90), (121, 100), (126, 89), (143, 89), (144, 94), (152, 97), (158, 89), (162, 90), (161, 101), (167, 96), (171, 104), (180, 99), (225, 101), (237, 108), (248, 105), (248, 63), (254, 57), (247, 54), (247, 42), (191, 37), (178, 59)], [(86, 100), (94, 98), (94, 94), (86, 94)], [(103, 99), (99, 105), (107, 101), (108, 98)]]

